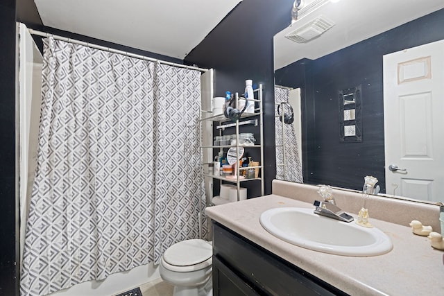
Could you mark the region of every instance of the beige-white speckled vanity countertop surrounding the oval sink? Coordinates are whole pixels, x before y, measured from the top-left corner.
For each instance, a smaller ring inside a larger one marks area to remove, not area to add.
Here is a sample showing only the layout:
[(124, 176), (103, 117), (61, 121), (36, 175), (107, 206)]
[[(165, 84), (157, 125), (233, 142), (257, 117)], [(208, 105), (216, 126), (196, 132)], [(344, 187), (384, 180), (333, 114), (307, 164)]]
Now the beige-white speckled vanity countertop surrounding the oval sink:
[[(411, 228), (371, 218), (393, 242), (387, 254), (352, 257), (325, 254), (291, 245), (266, 232), (259, 223), (263, 211), (275, 207), (314, 207), (279, 195), (207, 207), (207, 216), (350, 295), (444, 295), (443, 251)], [(353, 213), (348, 213), (352, 214)], [(352, 222), (354, 223), (354, 222)]]

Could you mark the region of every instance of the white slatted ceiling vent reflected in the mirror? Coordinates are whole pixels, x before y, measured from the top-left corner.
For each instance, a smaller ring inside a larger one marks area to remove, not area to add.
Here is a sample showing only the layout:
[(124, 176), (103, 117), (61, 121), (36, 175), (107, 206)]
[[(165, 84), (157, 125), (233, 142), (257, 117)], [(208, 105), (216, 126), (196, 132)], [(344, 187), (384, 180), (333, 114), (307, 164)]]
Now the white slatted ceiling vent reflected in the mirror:
[(295, 31), (285, 35), (289, 40), (298, 43), (304, 43), (312, 40), (321, 34), (325, 33), (328, 29), (334, 26), (334, 22), (320, 15), (316, 19), (310, 21), (308, 24), (297, 28)]

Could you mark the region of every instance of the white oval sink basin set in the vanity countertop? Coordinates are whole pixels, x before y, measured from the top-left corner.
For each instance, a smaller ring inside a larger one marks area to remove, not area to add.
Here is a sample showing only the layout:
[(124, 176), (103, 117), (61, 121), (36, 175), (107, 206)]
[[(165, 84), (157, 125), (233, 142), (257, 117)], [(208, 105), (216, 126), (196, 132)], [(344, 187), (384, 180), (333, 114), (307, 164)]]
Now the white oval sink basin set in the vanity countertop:
[(260, 223), (282, 241), (329, 254), (376, 256), (393, 248), (391, 239), (377, 228), (319, 216), (313, 209), (269, 209), (261, 214)]

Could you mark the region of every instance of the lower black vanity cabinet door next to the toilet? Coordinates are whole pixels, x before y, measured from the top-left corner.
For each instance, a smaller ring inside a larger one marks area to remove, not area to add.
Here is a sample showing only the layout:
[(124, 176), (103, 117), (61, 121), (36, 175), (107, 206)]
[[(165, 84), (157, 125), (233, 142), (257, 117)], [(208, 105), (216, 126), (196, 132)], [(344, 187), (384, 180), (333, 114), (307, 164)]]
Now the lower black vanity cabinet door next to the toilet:
[(217, 256), (213, 256), (213, 295), (253, 296), (259, 294), (223, 264)]

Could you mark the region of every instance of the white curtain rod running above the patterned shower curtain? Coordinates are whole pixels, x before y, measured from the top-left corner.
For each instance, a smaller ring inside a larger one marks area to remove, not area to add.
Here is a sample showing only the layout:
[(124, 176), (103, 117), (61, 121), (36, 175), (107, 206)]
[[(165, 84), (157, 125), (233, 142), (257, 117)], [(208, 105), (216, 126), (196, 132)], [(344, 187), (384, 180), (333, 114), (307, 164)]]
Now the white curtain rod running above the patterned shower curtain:
[(198, 71), (201, 71), (201, 72), (208, 71), (208, 69), (187, 66), (185, 64), (177, 64), (175, 62), (167, 62), (167, 61), (164, 61), (164, 60), (157, 60), (155, 58), (149, 58), (149, 57), (147, 57), (145, 55), (137, 55), (135, 53), (128, 53), (128, 51), (119, 51), (118, 49), (112, 49), (110, 47), (105, 47), (105, 46), (101, 46), (101, 45), (97, 45), (97, 44), (93, 44), (93, 43), (89, 43), (89, 42), (83, 42), (83, 41), (80, 41), (80, 40), (75, 40), (75, 39), (71, 39), (71, 38), (68, 38), (68, 37), (63, 37), (63, 36), (60, 36), (60, 35), (54, 35), (54, 34), (51, 34), (51, 33), (37, 31), (37, 30), (33, 30), (31, 28), (28, 28), (28, 31), (32, 35), (39, 35), (39, 36), (42, 36), (42, 37), (53, 37), (56, 40), (62, 40), (62, 41), (73, 43), (73, 44), (79, 44), (79, 45), (83, 45), (83, 46), (88, 46), (88, 47), (91, 47), (92, 49), (100, 49), (102, 51), (109, 51), (110, 53), (119, 53), (121, 55), (128, 55), (131, 58), (138, 58), (140, 60), (149, 60), (151, 62), (160, 62), (161, 64), (169, 64), (170, 66), (186, 68), (186, 69), (191, 69), (191, 70), (198, 70)]

